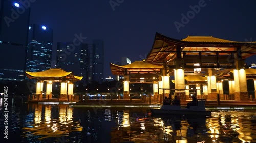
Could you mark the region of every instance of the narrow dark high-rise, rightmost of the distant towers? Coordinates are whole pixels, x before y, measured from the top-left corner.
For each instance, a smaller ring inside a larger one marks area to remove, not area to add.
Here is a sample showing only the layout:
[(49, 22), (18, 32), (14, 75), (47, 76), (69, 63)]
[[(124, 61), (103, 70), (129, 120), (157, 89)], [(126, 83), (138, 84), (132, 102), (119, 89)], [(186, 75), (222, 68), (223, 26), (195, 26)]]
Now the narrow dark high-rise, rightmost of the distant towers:
[(92, 49), (92, 81), (102, 83), (104, 80), (104, 41), (93, 40)]

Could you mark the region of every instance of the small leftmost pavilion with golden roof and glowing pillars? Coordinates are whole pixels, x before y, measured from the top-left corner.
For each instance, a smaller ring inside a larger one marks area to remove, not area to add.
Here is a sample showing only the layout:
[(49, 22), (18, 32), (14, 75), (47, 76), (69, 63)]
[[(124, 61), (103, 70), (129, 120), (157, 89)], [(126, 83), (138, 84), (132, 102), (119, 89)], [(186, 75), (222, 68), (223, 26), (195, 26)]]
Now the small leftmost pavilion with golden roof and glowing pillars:
[(73, 95), (74, 82), (80, 81), (83, 77), (75, 76), (73, 72), (66, 72), (62, 69), (49, 69), (40, 72), (25, 72), (29, 79), (36, 79), (36, 95), (42, 99), (44, 82), (46, 82), (46, 95), (52, 98), (52, 83), (61, 82), (60, 99), (69, 99)]

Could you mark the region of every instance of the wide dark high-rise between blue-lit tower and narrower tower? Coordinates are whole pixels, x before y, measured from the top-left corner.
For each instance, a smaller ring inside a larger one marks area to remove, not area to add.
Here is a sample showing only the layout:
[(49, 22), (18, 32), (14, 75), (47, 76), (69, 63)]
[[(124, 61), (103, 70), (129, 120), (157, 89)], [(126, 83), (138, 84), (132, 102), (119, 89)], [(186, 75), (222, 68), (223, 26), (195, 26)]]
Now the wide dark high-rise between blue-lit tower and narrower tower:
[(57, 68), (67, 72), (72, 71), (77, 76), (82, 76), (84, 84), (89, 83), (90, 52), (88, 44), (81, 43), (75, 46), (72, 42), (57, 43)]

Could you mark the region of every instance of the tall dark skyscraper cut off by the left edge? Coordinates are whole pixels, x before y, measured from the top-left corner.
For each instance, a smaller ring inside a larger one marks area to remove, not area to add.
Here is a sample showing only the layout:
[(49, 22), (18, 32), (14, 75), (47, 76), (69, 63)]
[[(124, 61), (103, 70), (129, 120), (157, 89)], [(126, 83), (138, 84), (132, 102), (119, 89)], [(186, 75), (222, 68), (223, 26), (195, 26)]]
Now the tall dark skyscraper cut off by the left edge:
[(30, 7), (0, 1), (0, 81), (24, 80)]

